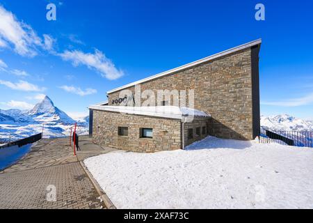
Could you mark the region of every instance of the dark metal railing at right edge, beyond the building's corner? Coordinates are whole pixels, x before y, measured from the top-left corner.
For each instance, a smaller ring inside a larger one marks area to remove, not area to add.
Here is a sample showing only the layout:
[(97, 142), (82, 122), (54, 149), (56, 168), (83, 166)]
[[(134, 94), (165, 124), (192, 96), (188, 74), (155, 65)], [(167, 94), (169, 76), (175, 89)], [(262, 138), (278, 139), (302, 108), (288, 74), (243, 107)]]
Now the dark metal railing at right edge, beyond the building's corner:
[(270, 131), (266, 130), (266, 135), (259, 137), (260, 143), (276, 142), (289, 146), (313, 148), (313, 132), (308, 131)]

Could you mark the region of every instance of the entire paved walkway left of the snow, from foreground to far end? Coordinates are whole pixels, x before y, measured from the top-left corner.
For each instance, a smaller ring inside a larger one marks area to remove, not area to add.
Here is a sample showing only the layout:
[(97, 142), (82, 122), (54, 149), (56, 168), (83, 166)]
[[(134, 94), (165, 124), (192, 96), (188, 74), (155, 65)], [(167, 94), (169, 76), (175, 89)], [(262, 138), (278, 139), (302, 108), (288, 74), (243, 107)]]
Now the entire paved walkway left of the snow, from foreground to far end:
[[(0, 208), (105, 208), (68, 144), (68, 138), (42, 139), (22, 160), (2, 171)], [(47, 201), (47, 194), (53, 195), (51, 188), (56, 201)]]

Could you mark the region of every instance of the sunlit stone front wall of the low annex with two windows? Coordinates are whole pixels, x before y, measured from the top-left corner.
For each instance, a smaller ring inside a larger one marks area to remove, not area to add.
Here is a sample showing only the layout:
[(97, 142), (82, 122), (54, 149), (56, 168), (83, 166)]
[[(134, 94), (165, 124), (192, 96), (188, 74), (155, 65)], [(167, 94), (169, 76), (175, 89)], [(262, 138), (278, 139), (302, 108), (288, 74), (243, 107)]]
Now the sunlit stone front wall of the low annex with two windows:
[[(119, 136), (118, 127), (128, 127), (128, 136)], [(140, 128), (152, 128), (153, 138), (141, 138)], [(93, 141), (102, 146), (135, 152), (168, 151), (182, 148), (181, 139), (177, 119), (93, 111)]]

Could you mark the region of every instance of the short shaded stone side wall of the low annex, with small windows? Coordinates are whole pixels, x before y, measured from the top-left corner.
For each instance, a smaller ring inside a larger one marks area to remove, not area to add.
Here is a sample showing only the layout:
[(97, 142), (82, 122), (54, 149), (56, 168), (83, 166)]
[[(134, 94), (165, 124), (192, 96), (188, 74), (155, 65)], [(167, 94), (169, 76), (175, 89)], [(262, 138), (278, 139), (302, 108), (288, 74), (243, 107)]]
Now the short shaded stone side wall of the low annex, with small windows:
[[(205, 132), (203, 134), (202, 128), (205, 128)], [(196, 134), (196, 129), (200, 128), (200, 134)], [(195, 118), (192, 122), (184, 123), (184, 147), (193, 144), (195, 141), (200, 141), (204, 139), (209, 134), (209, 118)], [(188, 129), (193, 129), (193, 138), (188, 139)]]

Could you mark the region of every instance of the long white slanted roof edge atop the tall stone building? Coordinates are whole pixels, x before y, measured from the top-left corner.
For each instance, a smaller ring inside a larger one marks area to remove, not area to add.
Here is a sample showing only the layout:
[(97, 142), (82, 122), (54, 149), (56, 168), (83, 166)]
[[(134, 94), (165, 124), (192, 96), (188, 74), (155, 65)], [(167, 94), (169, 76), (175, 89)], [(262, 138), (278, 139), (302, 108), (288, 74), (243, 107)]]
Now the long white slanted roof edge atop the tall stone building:
[(218, 57), (220, 57), (220, 56), (225, 56), (225, 55), (227, 55), (227, 54), (232, 54), (233, 52), (237, 52), (237, 51), (239, 51), (239, 50), (241, 50), (241, 49), (246, 49), (246, 48), (249, 48), (249, 47), (253, 47), (253, 46), (259, 45), (259, 44), (261, 44), (261, 43), (262, 43), (262, 39), (259, 38), (259, 39), (257, 39), (257, 40), (252, 41), (252, 42), (245, 43), (245, 44), (243, 44), (243, 45), (239, 45), (238, 47), (233, 47), (233, 48), (227, 49), (227, 50), (225, 50), (225, 51), (223, 51), (223, 52), (219, 52), (219, 53), (217, 53), (217, 54), (213, 54), (213, 55), (211, 55), (211, 56), (207, 56), (207, 57), (205, 57), (205, 58), (203, 58), (203, 59), (200, 59), (200, 60), (198, 60), (198, 61), (194, 61), (194, 62), (191, 62), (191, 63), (187, 63), (187, 64), (185, 64), (185, 65), (183, 65), (183, 66), (179, 66), (178, 68), (173, 68), (173, 69), (171, 69), (171, 70), (167, 70), (167, 71), (161, 72), (161, 73), (159, 73), (159, 74), (157, 74), (157, 75), (153, 75), (153, 76), (150, 76), (150, 77), (146, 77), (146, 78), (140, 79), (140, 80), (138, 80), (138, 81), (136, 81), (136, 82), (131, 82), (131, 83), (129, 83), (129, 84), (126, 84), (126, 85), (124, 85), (124, 86), (120, 86), (120, 87), (118, 87), (118, 88), (116, 88), (116, 89), (113, 89), (113, 90), (111, 90), (111, 91), (106, 91), (106, 93), (109, 94), (109, 93), (113, 93), (113, 92), (115, 92), (115, 91), (120, 91), (120, 90), (122, 90), (122, 89), (127, 89), (127, 88), (129, 88), (129, 87), (131, 87), (131, 86), (134, 86), (134, 85), (136, 85), (136, 84), (141, 84), (141, 83), (144, 83), (144, 82), (148, 82), (148, 81), (150, 81), (150, 80), (152, 80), (152, 79), (156, 79), (156, 78), (158, 78), (158, 77), (163, 77), (163, 76), (165, 76), (165, 75), (170, 75), (170, 74), (173, 73), (173, 72), (177, 72), (177, 71), (179, 71), (179, 70), (184, 70), (184, 69), (186, 69), (186, 68), (190, 68), (190, 67), (195, 66), (195, 65), (198, 65), (198, 64), (200, 64), (200, 63), (204, 63), (204, 62), (207, 62), (207, 61), (211, 61), (211, 60), (216, 59), (216, 58), (218, 58)]

